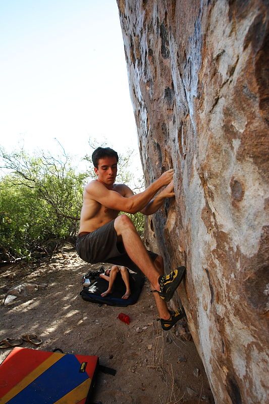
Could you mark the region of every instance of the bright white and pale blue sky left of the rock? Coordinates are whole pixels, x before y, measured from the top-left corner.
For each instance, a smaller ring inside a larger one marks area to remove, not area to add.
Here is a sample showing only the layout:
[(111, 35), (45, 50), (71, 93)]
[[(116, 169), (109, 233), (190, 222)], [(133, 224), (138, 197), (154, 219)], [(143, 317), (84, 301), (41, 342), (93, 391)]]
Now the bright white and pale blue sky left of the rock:
[(0, 0), (0, 37), (2, 146), (138, 150), (116, 0)]

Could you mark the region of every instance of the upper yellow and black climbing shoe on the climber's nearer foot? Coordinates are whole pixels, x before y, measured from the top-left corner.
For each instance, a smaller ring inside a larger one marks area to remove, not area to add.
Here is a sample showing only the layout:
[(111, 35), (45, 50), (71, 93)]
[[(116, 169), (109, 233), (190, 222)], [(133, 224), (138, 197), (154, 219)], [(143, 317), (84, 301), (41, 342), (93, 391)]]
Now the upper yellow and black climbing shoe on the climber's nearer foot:
[(158, 279), (160, 290), (151, 290), (151, 292), (157, 292), (161, 299), (169, 301), (172, 299), (175, 290), (179, 286), (182, 278), (185, 274), (185, 267), (178, 267), (175, 271), (172, 271), (169, 275), (161, 275)]

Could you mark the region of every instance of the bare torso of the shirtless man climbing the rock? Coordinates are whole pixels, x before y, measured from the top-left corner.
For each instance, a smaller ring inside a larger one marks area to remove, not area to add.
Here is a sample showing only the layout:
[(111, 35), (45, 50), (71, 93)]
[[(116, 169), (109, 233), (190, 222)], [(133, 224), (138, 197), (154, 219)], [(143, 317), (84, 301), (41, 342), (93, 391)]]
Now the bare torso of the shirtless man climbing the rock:
[[(91, 181), (91, 186), (96, 180)], [(126, 186), (123, 184), (113, 184), (113, 191), (120, 193), (125, 196)], [(106, 208), (99, 202), (94, 200), (89, 192), (87, 192), (87, 186), (83, 192), (83, 204), (80, 215), (80, 228), (79, 233), (82, 232), (92, 232), (106, 223), (111, 222), (116, 219), (119, 211), (114, 209)]]

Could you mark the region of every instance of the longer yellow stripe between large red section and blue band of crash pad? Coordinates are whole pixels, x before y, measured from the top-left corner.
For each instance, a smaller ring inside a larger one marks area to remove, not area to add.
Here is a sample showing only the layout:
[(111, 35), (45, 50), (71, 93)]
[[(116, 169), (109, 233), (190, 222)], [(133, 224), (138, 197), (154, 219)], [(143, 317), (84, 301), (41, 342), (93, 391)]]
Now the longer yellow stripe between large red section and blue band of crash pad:
[(45, 372), (50, 366), (54, 365), (66, 354), (53, 353), (44, 362), (38, 365), (31, 373), (29, 373), (24, 379), (20, 380), (4, 397), (0, 398), (0, 403), (7, 402), (15, 397), (16, 394), (20, 393), (25, 387), (29, 386), (38, 376)]

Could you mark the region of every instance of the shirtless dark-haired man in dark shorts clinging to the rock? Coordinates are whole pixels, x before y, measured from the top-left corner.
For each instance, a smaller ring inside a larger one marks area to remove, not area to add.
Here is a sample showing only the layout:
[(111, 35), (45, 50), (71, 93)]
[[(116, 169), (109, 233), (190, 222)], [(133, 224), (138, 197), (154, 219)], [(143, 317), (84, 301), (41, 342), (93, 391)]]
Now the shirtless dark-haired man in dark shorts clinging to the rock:
[(110, 147), (98, 147), (92, 154), (97, 178), (86, 185), (83, 193), (76, 250), (82, 260), (91, 264), (106, 262), (135, 272), (141, 270), (154, 289), (158, 320), (164, 330), (169, 330), (184, 317), (180, 309), (168, 310), (166, 302), (179, 286), (185, 267), (164, 275), (163, 258), (146, 250), (131, 219), (119, 212), (155, 213), (166, 198), (175, 196), (174, 171), (166, 171), (135, 195), (127, 185), (115, 184), (118, 160), (117, 152)]

